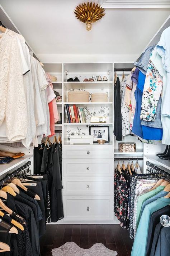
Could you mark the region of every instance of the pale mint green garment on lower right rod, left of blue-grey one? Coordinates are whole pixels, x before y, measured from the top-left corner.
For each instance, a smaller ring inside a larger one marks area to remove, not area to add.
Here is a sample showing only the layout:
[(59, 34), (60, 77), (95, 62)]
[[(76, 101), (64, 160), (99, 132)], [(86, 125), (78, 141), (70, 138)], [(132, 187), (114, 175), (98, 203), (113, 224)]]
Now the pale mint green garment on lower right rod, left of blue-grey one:
[(158, 186), (157, 188), (148, 191), (145, 194), (142, 194), (141, 196), (138, 197), (138, 201), (137, 201), (137, 217), (136, 217), (136, 225), (138, 227), (139, 225), (139, 221), (140, 221), (140, 213), (141, 213), (141, 208), (142, 208), (142, 203), (145, 202), (145, 200), (147, 200), (150, 197), (155, 196), (157, 193), (159, 193), (160, 191), (162, 191), (165, 188), (165, 186)]

